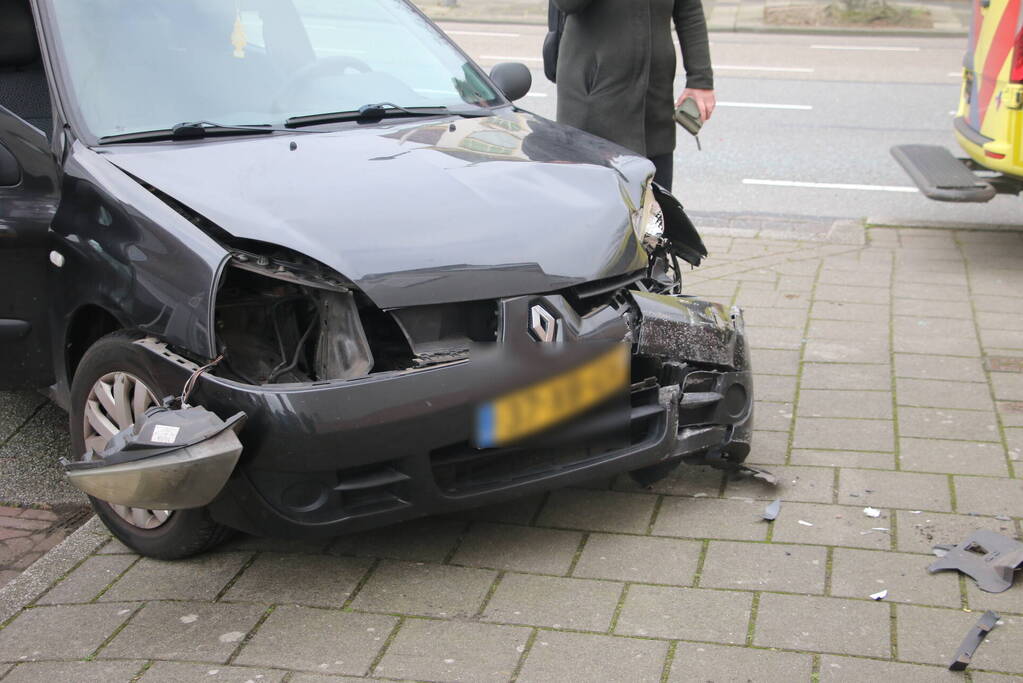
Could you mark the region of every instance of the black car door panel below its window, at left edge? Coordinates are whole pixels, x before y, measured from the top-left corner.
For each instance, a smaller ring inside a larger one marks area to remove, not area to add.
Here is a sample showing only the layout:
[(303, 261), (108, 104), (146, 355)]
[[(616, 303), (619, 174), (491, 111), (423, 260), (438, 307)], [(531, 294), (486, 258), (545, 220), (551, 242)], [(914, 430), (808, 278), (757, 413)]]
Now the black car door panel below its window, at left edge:
[(53, 382), (46, 276), (56, 179), (46, 136), (0, 105), (0, 389)]

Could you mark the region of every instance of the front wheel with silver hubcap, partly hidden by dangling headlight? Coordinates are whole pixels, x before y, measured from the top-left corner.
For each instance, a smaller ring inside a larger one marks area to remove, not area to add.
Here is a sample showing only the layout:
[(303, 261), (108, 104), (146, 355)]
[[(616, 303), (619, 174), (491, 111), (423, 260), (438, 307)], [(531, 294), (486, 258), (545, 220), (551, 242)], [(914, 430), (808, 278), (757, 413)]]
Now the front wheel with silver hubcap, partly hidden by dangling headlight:
[[(157, 397), (180, 392), (165, 386), (148, 370), (146, 352), (135, 344), (137, 334), (115, 332), (85, 353), (71, 389), (72, 458), (87, 450), (99, 453), (115, 434), (130, 427)], [(106, 528), (132, 550), (160, 559), (179, 559), (223, 542), (230, 530), (210, 516), (206, 508), (149, 510), (115, 505), (89, 497)]]

